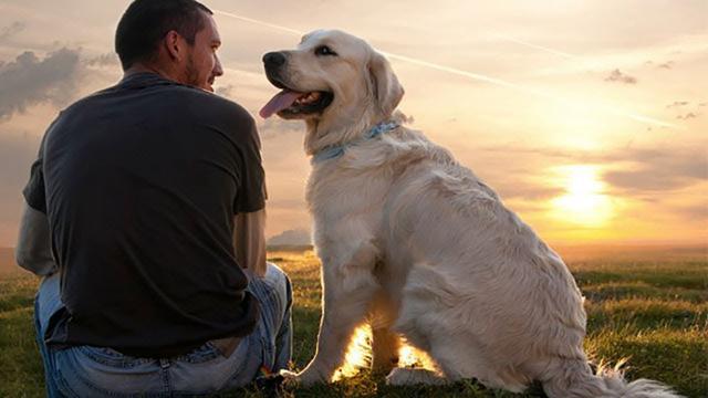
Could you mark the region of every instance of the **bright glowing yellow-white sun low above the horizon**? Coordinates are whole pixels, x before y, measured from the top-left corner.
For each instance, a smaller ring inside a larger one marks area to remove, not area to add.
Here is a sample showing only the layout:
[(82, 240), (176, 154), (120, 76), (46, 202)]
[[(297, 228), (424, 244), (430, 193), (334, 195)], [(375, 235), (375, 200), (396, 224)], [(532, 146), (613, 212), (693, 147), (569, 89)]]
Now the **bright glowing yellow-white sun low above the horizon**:
[(604, 195), (605, 184), (598, 178), (598, 167), (573, 165), (558, 168), (566, 193), (551, 200), (555, 218), (583, 227), (602, 227), (614, 214), (611, 198)]

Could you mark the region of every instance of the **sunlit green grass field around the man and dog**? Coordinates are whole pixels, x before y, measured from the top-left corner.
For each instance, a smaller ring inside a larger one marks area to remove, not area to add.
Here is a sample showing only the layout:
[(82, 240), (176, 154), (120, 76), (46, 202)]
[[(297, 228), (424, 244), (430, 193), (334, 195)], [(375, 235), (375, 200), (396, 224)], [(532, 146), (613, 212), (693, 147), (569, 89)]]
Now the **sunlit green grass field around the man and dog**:
[[(687, 397), (708, 397), (708, 258), (705, 249), (623, 248), (563, 251), (586, 296), (585, 348), (596, 358), (628, 358), (628, 379), (664, 381)], [(312, 252), (270, 252), (294, 286), (294, 367), (314, 353), (320, 318), (319, 262)], [(7, 270), (7, 268), (6, 268)], [(43, 376), (32, 327), (38, 281), (0, 274), (0, 397), (43, 395)], [(254, 389), (235, 395), (264, 396)], [(473, 380), (448, 387), (394, 388), (383, 376), (362, 370), (330, 386), (287, 391), (296, 397), (514, 397)], [(543, 397), (532, 386), (520, 397)]]

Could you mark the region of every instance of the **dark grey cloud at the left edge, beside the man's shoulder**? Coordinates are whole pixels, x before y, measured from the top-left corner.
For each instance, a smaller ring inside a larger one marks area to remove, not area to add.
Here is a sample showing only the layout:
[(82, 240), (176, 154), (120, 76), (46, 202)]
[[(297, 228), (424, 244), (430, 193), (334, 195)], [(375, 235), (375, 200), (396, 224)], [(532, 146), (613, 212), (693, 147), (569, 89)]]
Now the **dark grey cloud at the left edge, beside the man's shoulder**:
[(61, 49), (40, 60), (27, 51), (0, 69), (0, 122), (31, 105), (63, 106), (73, 100), (82, 78), (77, 50)]

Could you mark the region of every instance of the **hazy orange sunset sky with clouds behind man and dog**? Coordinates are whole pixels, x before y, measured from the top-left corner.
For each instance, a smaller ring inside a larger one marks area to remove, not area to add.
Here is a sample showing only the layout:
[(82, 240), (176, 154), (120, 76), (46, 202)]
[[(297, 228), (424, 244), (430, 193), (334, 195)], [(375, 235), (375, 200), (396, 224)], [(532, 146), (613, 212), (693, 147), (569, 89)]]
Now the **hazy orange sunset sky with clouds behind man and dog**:
[[(226, 75), (253, 113), (268, 235), (308, 230), (303, 126), (256, 112), (261, 55), (337, 28), (391, 54), (412, 127), (450, 148), (545, 240), (708, 244), (706, 1), (206, 1)], [(0, 0), (0, 247), (17, 239), (39, 139), (72, 101), (113, 84), (127, 1)], [(28, 53), (29, 52), (29, 53)]]

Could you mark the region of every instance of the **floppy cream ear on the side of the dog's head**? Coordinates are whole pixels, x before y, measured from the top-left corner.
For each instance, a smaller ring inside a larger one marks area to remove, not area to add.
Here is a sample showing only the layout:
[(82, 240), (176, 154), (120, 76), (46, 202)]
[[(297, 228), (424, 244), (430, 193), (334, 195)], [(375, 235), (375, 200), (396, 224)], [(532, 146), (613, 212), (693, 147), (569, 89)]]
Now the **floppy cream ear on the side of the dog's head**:
[(398, 77), (394, 74), (388, 60), (375, 51), (372, 51), (368, 61), (368, 75), (378, 108), (384, 116), (388, 117), (403, 98), (403, 86), (398, 83)]

